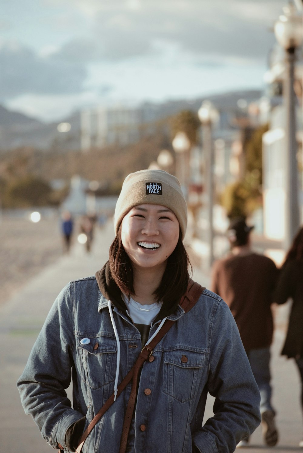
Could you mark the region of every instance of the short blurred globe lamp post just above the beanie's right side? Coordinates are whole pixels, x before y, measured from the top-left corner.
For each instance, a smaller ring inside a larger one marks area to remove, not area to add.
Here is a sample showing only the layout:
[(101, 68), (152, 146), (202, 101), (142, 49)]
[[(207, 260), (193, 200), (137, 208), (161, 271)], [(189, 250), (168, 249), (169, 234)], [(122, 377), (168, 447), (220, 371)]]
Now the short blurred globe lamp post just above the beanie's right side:
[(172, 142), (173, 149), (176, 153), (176, 174), (180, 180), (181, 188), (184, 197), (188, 198), (188, 151), (190, 149), (190, 141), (185, 132), (178, 132)]

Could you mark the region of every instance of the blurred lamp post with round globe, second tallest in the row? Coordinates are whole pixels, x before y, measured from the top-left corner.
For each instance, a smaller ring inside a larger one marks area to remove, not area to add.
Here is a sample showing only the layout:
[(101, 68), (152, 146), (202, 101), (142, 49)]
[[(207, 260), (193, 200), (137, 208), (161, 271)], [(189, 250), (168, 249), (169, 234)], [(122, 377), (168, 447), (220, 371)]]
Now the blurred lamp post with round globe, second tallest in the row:
[(212, 146), (212, 124), (218, 118), (218, 111), (212, 106), (211, 102), (204, 101), (198, 110), (198, 117), (203, 126), (203, 149), (206, 151), (206, 175), (207, 175), (207, 194), (208, 194), (208, 241), (209, 241), (209, 267), (214, 261), (214, 226), (213, 226), (213, 204), (214, 204), (214, 150)]

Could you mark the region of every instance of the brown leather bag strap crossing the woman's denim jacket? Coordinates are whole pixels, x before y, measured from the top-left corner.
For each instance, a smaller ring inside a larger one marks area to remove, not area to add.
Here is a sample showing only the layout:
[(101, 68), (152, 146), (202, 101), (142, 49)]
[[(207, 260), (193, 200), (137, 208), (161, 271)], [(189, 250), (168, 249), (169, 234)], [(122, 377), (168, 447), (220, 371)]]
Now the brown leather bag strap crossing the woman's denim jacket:
[[(204, 287), (198, 284), (197, 282), (189, 279), (188, 289), (187, 292), (183, 295), (180, 306), (183, 308), (185, 313), (192, 309), (192, 307), (196, 304), (197, 300), (199, 299), (200, 295), (204, 291)], [(164, 337), (164, 335), (168, 332), (168, 330), (172, 327), (175, 321), (167, 319), (163, 324), (162, 328), (159, 330), (157, 335), (153, 338), (153, 340), (148, 344), (145, 345), (142, 351), (139, 354), (138, 359), (135, 362), (135, 365), (131, 368), (131, 370), (127, 373), (125, 378), (120, 382), (118, 386), (118, 393), (117, 397), (120, 393), (125, 389), (127, 384), (132, 381), (132, 388), (130, 392), (130, 398), (128, 400), (126, 412), (125, 412), (125, 419), (122, 428), (122, 435), (121, 435), (121, 442), (120, 442), (120, 450), (119, 453), (124, 453), (126, 449), (126, 443), (128, 438), (128, 433), (130, 430), (130, 424), (134, 413), (135, 408), (135, 400), (137, 395), (137, 380), (139, 375), (139, 370), (144, 362), (149, 358), (152, 354), (154, 347), (159, 343), (159, 341)], [(81, 453), (83, 444), (87, 439), (87, 436), (90, 434), (91, 430), (94, 428), (96, 423), (101, 419), (101, 417), (106, 413), (106, 411), (111, 407), (114, 402), (114, 394), (112, 394), (106, 403), (101, 407), (99, 412), (95, 415), (95, 417), (91, 420), (91, 423), (88, 425), (87, 429), (82, 434), (79, 445), (76, 450), (76, 453)]]

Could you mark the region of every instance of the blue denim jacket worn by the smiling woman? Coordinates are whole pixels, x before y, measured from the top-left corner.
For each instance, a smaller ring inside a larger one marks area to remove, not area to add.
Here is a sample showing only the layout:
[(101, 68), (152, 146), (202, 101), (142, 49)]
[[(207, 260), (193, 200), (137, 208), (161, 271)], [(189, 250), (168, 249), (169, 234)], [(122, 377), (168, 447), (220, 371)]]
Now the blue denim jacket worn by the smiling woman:
[[(113, 308), (120, 339), (119, 383), (142, 349), (130, 318)], [(233, 452), (260, 423), (260, 395), (234, 318), (225, 302), (205, 290), (176, 320), (144, 363), (128, 437), (130, 453)], [(155, 322), (149, 337), (155, 332)], [(82, 344), (82, 339), (87, 338)], [(67, 430), (86, 425), (114, 390), (117, 343), (108, 300), (95, 277), (72, 281), (58, 295), (18, 381), (22, 404), (43, 437), (65, 451)], [(72, 380), (72, 400), (65, 389)], [(96, 424), (83, 453), (118, 453), (131, 384)], [(214, 416), (203, 424), (207, 392)]]

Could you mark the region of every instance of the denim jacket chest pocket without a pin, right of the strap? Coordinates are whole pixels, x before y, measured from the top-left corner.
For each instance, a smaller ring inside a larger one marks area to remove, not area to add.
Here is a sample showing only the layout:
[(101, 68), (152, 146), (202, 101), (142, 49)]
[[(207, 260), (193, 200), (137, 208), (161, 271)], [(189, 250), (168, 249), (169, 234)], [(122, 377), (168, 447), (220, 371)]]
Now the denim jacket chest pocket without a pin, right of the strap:
[(185, 349), (164, 351), (164, 393), (181, 403), (194, 398), (204, 357)]

